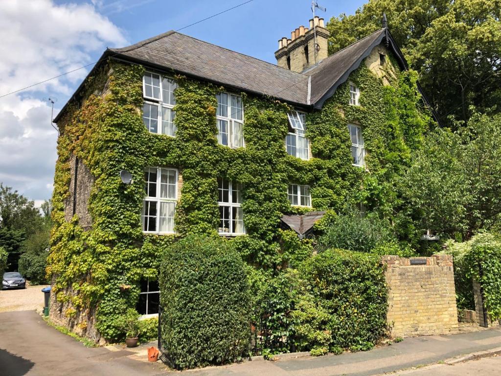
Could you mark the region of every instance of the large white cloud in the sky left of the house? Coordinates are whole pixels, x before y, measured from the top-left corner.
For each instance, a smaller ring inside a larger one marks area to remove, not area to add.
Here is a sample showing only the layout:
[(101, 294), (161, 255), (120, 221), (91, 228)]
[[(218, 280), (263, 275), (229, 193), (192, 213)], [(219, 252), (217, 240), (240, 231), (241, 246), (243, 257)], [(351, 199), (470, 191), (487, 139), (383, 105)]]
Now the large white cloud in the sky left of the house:
[[(0, 96), (92, 63), (107, 45), (128, 44), (95, 6), (51, 0), (0, 1), (0, 35)], [(57, 132), (42, 97), (59, 97), (62, 106), (87, 72), (0, 98), (0, 181), (33, 200), (50, 198)]]

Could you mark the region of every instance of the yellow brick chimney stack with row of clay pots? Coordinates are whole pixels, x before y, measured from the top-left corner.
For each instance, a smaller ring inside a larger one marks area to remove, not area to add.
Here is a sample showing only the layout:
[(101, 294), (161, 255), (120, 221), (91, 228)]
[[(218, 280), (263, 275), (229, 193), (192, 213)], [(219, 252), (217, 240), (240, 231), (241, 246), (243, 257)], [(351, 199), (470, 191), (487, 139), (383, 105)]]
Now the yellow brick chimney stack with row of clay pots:
[[(317, 46), (315, 46), (315, 31)], [(300, 26), (291, 32), (291, 38), (279, 40), (279, 49), (275, 52), (279, 67), (302, 72), (327, 57), (327, 41), (329, 32), (325, 28), (324, 19), (315, 17), (310, 20), (310, 27)], [(315, 48), (316, 47), (316, 48)]]

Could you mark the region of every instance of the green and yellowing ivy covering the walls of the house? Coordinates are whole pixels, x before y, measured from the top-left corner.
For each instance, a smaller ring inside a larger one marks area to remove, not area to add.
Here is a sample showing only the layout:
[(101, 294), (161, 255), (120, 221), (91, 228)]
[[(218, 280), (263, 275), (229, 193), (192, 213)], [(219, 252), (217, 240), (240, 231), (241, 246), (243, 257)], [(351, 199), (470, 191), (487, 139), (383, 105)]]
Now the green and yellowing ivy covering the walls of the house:
[[(178, 236), (216, 234), (217, 179), (243, 184), (247, 234), (231, 243), (266, 278), (297, 267), (313, 252), (311, 240), (278, 230), (283, 214), (305, 211), (289, 204), (289, 182), (311, 186), (313, 210), (339, 211), (347, 197), (353, 197), (369, 210), (379, 210), (382, 218), (391, 218), (399, 205), (395, 176), (408, 163), (407, 154), (399, 155), (420, 143), (420, 132), (428, 125), (428, 116), (419, 109), (415, 75), (395, 67), (388, 63), (391, 86), (383, 86), (362, 64), (350, 76), (361, 88), (361, 106), (349, 105), (348, 84), (343, 84), (321, 111), (307, 116), (314, 157), (304, 161), (287, 155), (284, 147), (291, 110), (287, 104), (242, 93), (246, 146), (230, 149), (218, 145), (216, 138), (215, 94), (223, 88), (175, 77), (176, 137), (152, 134), (141, 118), (144, 68), (115, 61), (103, 65), (86, 81), (82, 105), (71, 104), (58, 124), (54, 231), (47, 267), (58, 301), (69, 301), (76, 311), (97, 307), (99, 333), (110, 341), (122, 338), (117, 320), (136, 305), (139, 281), (157, 278), (160, 255), (177, 239), (141, 231), (146, 166), (176, 167), (182, 175), (175, 213)], [(366, 172), (351, 164), (348, 122), (364, 129)], [(77, 216), (69, 222), (65, 218), (72, 155), (94, 177), (89, 231)], [(132, 173), (133, 184), (121, 183), (121, 169)], [(280, 306), (275, 311), (284, 312)], [(288, 325), (276, 330), (288, 330)]]

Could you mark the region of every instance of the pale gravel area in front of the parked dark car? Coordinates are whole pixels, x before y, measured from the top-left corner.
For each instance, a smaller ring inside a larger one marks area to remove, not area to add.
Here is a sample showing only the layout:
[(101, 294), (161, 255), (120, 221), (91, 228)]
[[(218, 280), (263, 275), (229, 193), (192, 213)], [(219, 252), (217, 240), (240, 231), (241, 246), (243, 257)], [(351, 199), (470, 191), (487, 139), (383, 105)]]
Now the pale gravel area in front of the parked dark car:
[(43, 309), (44, 293), (41, 290), (47, 286), (28, 286), (22, 290), (0, 291), (0, 312)]

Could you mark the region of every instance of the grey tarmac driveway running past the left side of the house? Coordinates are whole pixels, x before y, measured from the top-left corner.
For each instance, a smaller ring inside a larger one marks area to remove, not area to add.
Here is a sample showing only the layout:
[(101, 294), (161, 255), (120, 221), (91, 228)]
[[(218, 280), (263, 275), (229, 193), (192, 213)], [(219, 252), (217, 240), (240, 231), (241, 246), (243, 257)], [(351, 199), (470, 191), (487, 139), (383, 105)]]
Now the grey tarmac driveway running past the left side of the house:
[(166, 374), (162, 364), (127, 357), (132, 354), (127, 350), (87, 348), (48, 326), (35, 311), (0, 313), (1, 376)]

